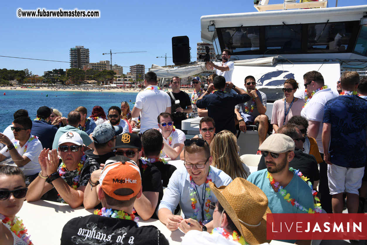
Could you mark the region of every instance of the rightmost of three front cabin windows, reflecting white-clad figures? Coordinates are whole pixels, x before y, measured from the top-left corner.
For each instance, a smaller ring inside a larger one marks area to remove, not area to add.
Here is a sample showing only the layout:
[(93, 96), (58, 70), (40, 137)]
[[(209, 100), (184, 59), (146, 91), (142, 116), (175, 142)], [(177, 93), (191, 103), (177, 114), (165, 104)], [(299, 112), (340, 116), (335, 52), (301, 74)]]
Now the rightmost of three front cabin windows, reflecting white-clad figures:
[(344, 53), (348, 48), (353, 24), (344, 22), (308, 25), (308, 53)]

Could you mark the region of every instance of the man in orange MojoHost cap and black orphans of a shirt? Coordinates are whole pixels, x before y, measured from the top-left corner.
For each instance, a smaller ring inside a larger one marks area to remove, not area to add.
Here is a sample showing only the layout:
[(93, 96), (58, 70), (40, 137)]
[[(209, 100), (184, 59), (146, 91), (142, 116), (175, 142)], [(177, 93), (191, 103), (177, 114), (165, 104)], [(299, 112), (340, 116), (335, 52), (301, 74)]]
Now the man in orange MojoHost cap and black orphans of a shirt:
[(133, 206), (142, 198), (140, 170), (134, 161), (117, 156), (103, 167), (97, 187), (103, 208), (74, 218), (62, 229), (61, 245), (164, 244), (167, 239), (155, 226), (138, 227)]

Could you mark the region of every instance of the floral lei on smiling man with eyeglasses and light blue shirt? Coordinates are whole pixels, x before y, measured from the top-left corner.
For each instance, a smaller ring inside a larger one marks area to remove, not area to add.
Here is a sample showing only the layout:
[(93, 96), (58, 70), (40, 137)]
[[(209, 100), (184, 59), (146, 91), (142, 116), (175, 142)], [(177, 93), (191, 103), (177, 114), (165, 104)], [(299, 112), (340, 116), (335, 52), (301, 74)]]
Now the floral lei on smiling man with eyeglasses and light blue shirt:
[[(211, 214), (209, 213), (209, 206), (210, 206), (210, 202), (211, 202), (211, 195), (210, 195), (210, 187), (206, 187), (206, 185), (208, 184), (209, 181), (212, 181), (212, 176), (211, 176), (211, 167), (209, 167), (209, 173), (208, 173), (208, 176), (207, 176), (207, 180), (205, 181), (205, 184), (204, 184), (204, 190), (205, 191), (205, 199), (206, 199), (206, 202), (204, 203), (205, 206), (207, 207), (207, 209), (204, 209), (204, 205), (203, 205), (203, 211), (202, 212), (206, 212), (206, 214), (204, 214), (204, 216), (206, 217), (205, 220), (203, 221), (200, 221), (199, 223), (200, 224), (207, 224), (209, 221), (210, 221), (210, 218), (211, 218)], [(193, 216), (191, 216), (191, 219), (194, 219), (194, 220), (197, 220), (197, 215), (199, 214), (199, 208), (196, 207), (196, 203), (197, 203), (197, 200), (195, 198), (195, 195), (198, 197), (198, 194), (197, 194), (197, 189), (196, 189), (196, 184), (195, 182), (192, 180), (192, 177), (190, 175), (190, 196), (192, 196), (192, 198), (190, 198), (191, 200), (191, 207), (192, 209), (194, 210), (194, 214)], [(199, 197), (198, 197), (199, 198)], [(203, 200), (204, 202), (204, 200)], [(199, 204), (200, 204), (200, 200), (199, 200)]]

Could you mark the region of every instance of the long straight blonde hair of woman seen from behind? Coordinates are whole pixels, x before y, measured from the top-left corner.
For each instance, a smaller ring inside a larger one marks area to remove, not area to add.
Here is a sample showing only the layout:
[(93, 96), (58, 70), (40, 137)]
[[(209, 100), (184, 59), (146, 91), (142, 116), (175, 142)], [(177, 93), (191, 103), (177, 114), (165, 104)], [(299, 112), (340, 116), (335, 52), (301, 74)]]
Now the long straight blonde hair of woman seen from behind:
[(247, 179), (250, 168), (241, 161), (239, 149), (236, 136), (232, 132), (228, 130), (219, 132), (210, 143), (212, 166), (224, 171), (233, 180), (237, 177)]

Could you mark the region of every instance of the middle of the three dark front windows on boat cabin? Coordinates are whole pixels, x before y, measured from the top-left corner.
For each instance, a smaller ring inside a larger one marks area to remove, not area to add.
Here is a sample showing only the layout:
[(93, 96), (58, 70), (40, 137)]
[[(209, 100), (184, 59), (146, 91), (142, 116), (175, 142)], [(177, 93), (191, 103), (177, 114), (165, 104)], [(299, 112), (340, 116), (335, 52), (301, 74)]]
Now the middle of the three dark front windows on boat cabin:
[(266, 26), (266, 53), (301, 53), (301, 33), (301, 25)]

